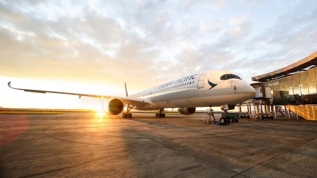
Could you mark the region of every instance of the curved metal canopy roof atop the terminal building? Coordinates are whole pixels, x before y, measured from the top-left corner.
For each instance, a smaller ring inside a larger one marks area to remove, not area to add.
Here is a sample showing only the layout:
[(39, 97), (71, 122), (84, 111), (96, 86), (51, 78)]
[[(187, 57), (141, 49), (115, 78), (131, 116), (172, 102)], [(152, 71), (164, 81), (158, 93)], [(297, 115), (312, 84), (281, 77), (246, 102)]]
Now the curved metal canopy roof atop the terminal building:
[(307, 71), (311, 69), (312, 67), (316, 67), (316, 66), (317, 66), (317, 52), (312, 53), (311, 55), (297, 61), (294, 64), (288, 65), (282, 69), (252, 77), (252, 80), (258, 81), (258, 82), (267, 82), (270, 80), (275, 80), (278, 78), (283, 78), (289, 75), (293, 75), (300, 71)]

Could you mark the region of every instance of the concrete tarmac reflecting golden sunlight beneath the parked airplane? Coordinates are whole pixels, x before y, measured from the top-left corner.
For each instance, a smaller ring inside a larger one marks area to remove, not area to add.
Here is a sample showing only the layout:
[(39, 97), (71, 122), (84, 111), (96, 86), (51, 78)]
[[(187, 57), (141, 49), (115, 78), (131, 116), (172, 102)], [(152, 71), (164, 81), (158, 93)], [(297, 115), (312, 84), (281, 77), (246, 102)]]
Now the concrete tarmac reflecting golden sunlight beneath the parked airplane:
[(0, 115), (0, 177), (316, 178), (317, 122)]

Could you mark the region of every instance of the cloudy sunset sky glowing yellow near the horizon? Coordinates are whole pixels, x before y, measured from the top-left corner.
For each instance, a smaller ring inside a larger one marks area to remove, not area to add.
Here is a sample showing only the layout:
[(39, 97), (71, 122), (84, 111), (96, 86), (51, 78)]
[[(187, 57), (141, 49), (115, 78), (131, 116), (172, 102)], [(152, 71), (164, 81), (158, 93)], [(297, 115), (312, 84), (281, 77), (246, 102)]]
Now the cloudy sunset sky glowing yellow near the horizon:
[(247, 82), (317, 51), (316, 0), (0, 0), (0, 107), (98, 108), (197, 71)]

